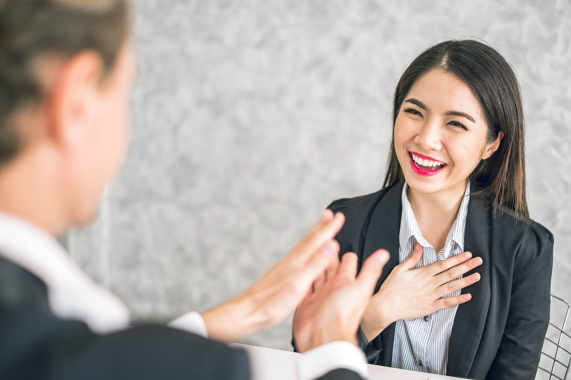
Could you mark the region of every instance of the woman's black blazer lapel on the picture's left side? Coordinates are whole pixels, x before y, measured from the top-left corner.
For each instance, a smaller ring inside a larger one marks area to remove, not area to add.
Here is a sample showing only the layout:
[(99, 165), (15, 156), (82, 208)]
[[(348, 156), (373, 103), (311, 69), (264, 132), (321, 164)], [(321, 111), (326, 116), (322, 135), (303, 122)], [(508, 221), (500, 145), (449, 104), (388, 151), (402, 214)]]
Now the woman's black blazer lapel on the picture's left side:
[[(375, 287), (375, 293), (379, 291), (381, 284), (387, 279), (387, 276), (395, 266), (399, 265), (399, 233), (400, 218), (403, 205), (401, 202), (401, 194), (403, 185), (393, 186), (379, 200), (375, 209), (373, 209), (371, 219), (368, 225), (365, 225), (361, 236), (364, 237), (363, 254), (359, 255), (365, 258), (371, 256), (377, 249), (384, 248), (389, 251), (391, 257), (383, 269), (383, 273)], [(360, 263), (362, 264), (362, 262)], [(377, 339), (379, 339), (377, 337)], [(383, 366), (391, 366), (392, 349), (395, 340), (395, 324), (389, 325), (380, 334), (381, 346), (383, 350), (377, 359), (376, 364)]]

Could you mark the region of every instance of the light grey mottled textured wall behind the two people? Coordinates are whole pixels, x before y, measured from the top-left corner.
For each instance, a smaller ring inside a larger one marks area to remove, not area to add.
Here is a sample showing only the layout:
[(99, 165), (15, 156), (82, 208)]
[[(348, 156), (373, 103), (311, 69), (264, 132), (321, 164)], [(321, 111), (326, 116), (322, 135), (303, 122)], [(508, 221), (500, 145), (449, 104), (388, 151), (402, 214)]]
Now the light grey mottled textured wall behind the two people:
[[(73, 257), (135, 319), (246, 288), (331, 200), (380, 188), (391, 94), (421, 49), (476, 36), (525, 92), (533, 219), (571, 299), (571, 3), (135, 0), (131, 148)], [(289, 323), (248, 342), (287, 349)]]

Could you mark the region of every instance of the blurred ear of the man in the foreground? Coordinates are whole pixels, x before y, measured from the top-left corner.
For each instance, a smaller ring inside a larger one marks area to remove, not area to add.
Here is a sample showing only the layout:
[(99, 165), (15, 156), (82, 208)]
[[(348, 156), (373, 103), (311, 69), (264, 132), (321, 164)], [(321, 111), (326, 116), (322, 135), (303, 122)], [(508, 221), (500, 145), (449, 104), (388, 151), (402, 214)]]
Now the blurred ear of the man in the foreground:
[(102, 73), (103, 60), (96, 52), (81, 52), (63, 63), (49, 98), (49, 132), (55, 144), (73, 148), (94, 126)]

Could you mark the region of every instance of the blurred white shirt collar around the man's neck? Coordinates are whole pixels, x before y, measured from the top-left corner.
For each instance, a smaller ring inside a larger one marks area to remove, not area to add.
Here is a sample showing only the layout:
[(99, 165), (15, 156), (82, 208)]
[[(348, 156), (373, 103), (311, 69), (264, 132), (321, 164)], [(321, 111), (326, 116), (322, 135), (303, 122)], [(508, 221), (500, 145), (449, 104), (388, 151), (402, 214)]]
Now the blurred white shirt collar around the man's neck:
[(45, 282), (50, 309), (56, 316), (86, 322), (96, 333), (128, 325), (129, 313), (123, 302), (83, 273), (53, 236), (2, 212), (0, 256)]

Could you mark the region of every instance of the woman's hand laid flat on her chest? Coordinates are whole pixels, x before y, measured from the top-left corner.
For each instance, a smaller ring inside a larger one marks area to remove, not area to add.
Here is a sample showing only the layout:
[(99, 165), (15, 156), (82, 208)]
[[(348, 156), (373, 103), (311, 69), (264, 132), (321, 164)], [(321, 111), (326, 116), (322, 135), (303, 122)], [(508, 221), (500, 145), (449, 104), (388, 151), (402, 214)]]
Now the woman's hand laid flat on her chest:
[(482, 264), (480, 257), (470, 260), (472, 253), (464, 252), (434, 264), (415, 268), (423, 256), (423, 247), (415, 249), (400, 265), (395, 266), (379, 292), (371, 297), (361, 321), (361, 329), (369, 341), (395, 321), (428, 316), (438, 310), (463, 304), (471, 294), (445, 297), (480, 281), (480, 274), (454, 280)]

